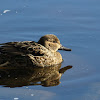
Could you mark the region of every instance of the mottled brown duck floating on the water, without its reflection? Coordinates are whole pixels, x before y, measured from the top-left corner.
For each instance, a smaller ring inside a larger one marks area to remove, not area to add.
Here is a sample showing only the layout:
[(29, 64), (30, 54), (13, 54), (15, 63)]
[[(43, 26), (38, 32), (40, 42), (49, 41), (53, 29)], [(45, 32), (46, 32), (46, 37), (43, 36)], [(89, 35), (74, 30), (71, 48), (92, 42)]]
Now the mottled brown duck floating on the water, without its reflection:
[(58, 50), (71, 51), (70, 48), (62, 46), (54, 34), (44, 35), (38, 42), (18, 41), (0, 45), (0, 66), (10, 63), (36, 67), (54, 66), (63, 61)]

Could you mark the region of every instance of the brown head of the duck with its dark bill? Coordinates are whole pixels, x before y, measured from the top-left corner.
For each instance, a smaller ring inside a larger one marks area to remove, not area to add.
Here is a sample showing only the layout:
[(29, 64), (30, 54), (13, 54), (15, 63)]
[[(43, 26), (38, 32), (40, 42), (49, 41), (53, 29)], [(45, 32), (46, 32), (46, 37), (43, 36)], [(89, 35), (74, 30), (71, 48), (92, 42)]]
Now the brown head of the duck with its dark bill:
[(56, 52), (58, 49), (65, 50), (65, 51), (71, 51), (71, 49), (62, 46), (60, 44), (60, 40), (53, 34), (47, 34), (41, 37), (38, 43), (54, 52)]

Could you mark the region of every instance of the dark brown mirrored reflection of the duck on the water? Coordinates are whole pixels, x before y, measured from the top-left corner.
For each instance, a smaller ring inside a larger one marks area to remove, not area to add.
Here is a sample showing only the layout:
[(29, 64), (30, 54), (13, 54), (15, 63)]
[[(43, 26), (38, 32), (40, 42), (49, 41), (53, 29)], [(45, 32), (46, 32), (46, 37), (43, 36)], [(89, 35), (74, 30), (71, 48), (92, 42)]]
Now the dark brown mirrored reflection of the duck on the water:
[(60, 67), (61, 64), (45, 68), (0, 67), (0, 85), (5, 87), (28, 85), (56, 86), (60, 84), (62, 74), (72, 68), (72, 66), (66, 66), (60, 69)]

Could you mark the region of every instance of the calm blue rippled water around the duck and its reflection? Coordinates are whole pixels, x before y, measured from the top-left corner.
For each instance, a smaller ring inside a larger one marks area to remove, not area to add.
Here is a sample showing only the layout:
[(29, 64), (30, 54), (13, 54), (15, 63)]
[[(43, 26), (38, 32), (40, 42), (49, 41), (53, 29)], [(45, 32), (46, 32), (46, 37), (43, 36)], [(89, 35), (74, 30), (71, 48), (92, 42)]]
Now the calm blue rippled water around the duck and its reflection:
[[(0, 1), (0, 43), (55, 34), (72, 52), (59, 51), (62, 67), (72, 65), (54, 87), (0, 86), (0, 100), (99, 100), (100, 1)], [(7, 11), (8, 10), (8, 11)]]

